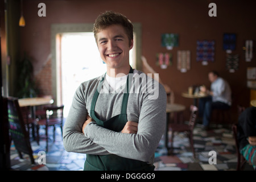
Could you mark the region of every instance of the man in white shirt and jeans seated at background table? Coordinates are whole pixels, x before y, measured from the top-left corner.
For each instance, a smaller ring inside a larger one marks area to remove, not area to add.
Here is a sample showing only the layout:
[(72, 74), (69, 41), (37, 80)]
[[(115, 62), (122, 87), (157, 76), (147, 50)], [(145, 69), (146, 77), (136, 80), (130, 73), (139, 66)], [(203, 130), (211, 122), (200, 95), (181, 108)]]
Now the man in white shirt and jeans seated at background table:
[(203, 117), (205, 129), (209, 129), (210, 117), (213, 109), (229, 109), (231, 106), (231, 89), (223, 78), (216, 71), (208, 74), (211, 82), (210, 90), (201, 87), (201, 92), (207, 92), (211, 97), (200, 98), (199, 100), (199, 117)]

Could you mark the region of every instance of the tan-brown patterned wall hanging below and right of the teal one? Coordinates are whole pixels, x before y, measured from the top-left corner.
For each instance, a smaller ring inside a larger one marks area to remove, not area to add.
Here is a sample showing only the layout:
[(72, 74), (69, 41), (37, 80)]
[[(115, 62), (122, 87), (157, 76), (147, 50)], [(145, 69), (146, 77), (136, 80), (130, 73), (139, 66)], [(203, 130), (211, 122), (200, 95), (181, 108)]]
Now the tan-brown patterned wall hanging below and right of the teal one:
[(190, 51), (177, 51), (177, 69), (181, 73), (190, 69)]

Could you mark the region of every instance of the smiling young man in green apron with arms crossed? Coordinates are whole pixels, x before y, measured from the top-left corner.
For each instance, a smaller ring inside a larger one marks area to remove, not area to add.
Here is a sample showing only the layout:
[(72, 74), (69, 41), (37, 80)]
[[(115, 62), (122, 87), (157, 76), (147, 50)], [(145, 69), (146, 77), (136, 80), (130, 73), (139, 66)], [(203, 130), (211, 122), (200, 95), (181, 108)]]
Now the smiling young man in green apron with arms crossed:
[(86, 154), (84, 170), (153, 170), (166, 122), (166, 92), (130, 67), (130, 20), (107, 11), (93, 32), (107, 71), (77, 89), (64, 125), (65, 150)]

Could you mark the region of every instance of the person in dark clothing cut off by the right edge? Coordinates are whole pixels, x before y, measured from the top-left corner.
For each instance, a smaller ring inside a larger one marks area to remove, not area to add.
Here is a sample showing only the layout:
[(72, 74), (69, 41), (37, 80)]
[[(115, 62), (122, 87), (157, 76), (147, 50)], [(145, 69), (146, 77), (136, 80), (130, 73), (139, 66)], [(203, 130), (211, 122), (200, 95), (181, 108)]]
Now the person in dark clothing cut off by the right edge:
[(237, 129), (240, 153), (256, 170), (256, 104), (241, 113)]

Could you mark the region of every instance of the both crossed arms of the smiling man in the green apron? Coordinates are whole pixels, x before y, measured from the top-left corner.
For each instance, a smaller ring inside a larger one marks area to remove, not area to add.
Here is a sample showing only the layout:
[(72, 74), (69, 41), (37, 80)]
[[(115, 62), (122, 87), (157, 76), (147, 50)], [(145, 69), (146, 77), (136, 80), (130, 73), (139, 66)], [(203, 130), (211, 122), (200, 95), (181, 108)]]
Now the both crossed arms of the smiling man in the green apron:
[(115, 154), (148, 162), (162, 138), (166, 121), (166, 93), (163, 90), (160, 90), (158, 100), (144, 101), (138, 123), (127, 122), (121, 132), (93, 122), (87, 114), (84, 93), (78, 92), (64, 125), (65, 150), (94, 155)]

